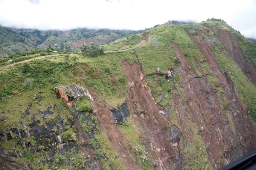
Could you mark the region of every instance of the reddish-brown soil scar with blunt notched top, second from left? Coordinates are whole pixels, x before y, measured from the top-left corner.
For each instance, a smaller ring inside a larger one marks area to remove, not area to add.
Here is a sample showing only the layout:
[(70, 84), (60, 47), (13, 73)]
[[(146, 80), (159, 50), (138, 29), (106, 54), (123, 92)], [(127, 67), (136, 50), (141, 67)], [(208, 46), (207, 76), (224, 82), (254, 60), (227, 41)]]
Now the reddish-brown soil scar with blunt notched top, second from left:
[(155, 98), (151, 95), (140, 63), (134, 62), (130, 65), (127, 60), (123, 60), (122, 68), (130, 85), (127, 104), (154, 168), (175, 169), (178, 165), (173, 164), (171, 158), (179, 153), (179, 149), (178, 144), (169, 141), (168, 128), (166, 128), (172, 125), (169, 116), (159, 113), (163, 109), (158, 107)]

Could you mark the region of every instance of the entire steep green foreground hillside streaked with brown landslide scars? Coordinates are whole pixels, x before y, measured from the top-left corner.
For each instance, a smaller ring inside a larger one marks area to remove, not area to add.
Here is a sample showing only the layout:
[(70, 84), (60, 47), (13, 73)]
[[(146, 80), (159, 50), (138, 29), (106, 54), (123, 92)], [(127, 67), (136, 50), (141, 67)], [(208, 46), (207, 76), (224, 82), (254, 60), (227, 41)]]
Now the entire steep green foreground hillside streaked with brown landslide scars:
[(256, 149), (256, 44), (223, 21), (104, 48), (0, 67), (4, 169), (220, 169)]

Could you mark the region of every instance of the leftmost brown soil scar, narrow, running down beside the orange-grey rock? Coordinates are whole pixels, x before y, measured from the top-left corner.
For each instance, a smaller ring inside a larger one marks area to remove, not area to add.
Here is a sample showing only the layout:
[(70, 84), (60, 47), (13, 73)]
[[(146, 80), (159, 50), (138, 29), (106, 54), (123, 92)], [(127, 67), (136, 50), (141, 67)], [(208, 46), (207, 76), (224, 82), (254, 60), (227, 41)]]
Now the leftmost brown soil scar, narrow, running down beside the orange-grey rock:
[[(91, 105), (93, 105), (95, 108), (101, 131), (110, 141), (111, 148), (117, 152), (118, 157), (122, 159), (126, 169), (139, 169), (139, 166), (135, 160), (135, 156), (131, 153), (131, 150), (128, 148), (128, 144), (124, 140), (120, 130), (115, 123), (115, 119), (112, 112), (110, 111), (110, 107), (92, 89), (89, 89), (89, 92), (92, 96), (90, 102)], [(100, 103), (95, 101), (96, 98), (99, 99)]]

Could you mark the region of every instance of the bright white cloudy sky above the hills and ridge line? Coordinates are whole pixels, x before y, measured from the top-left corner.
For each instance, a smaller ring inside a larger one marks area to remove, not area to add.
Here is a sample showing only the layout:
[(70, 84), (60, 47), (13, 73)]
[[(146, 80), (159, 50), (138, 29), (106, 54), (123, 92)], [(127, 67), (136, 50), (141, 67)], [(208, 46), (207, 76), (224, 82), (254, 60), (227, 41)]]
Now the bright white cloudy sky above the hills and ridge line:
[(0, 0), (0, 24), (36, 29), (145, 29), (168, 20), (221, 18), (256, 38), (256, 0)]

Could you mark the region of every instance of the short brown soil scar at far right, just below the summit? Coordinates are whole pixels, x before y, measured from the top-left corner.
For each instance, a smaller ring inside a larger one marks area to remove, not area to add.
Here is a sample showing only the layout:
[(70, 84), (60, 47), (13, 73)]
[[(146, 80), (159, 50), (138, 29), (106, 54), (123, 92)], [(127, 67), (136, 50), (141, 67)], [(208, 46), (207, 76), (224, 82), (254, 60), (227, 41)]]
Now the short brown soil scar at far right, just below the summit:
[(235, 35), (233, 33), (229, 33), (227, 30), (218, 30), (218, 33), (220, 35), (219, 41), (222, 43), (224, 48), (226, 48), (230, 56), (233, 57), (242, 72), (244, 72), (244, 75), (254, 85), (256, 85), (256, 67), (250, 59), (246, 60), (244, 58), (242, 50), (236, 41)]

